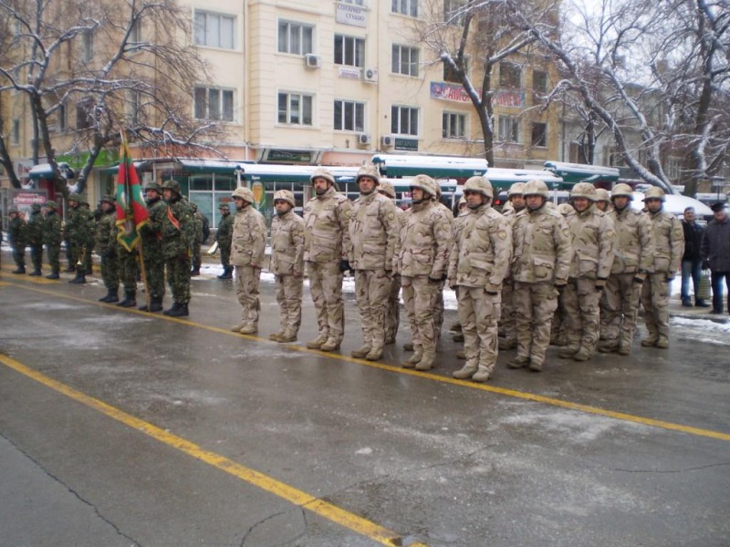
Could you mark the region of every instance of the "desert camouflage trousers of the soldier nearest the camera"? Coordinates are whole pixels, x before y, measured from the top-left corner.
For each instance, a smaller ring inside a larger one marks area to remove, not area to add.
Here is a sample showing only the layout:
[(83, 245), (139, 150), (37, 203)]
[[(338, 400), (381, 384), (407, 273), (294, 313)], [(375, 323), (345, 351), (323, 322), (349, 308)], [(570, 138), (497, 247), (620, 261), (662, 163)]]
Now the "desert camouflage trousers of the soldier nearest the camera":
[(486, 294), (484, 287), (459, 286), (459, 323), (464, 334), (467, 366), (492, 372), (497, 350), (497, 323), (501, 294)]

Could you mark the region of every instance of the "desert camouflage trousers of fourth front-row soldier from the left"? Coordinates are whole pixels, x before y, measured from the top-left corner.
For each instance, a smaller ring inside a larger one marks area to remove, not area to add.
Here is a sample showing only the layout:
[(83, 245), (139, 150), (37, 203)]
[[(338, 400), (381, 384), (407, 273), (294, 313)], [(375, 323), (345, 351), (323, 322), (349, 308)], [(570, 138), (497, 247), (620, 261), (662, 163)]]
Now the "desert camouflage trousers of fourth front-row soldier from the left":
[(385, 312), (392, 279), (385, 270), (356, 270), (355, 298), (360, 310), (362, 344), (372, 349), (385, 346)]

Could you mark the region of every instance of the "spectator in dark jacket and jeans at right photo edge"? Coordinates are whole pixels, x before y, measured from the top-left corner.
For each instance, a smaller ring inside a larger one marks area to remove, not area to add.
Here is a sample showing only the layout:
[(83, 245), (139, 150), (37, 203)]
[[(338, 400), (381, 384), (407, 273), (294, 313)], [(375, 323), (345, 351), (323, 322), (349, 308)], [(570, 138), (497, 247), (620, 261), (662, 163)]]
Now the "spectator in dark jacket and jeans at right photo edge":
[(727, 289), (727, 310), (730, 313), (730, 220), (725, 203), (712, 206), (714, 219), (707, 224), (700, 253), (703, 266), (710, 268), (713, 283), (713, 314), (723, 313), (723, 278)]

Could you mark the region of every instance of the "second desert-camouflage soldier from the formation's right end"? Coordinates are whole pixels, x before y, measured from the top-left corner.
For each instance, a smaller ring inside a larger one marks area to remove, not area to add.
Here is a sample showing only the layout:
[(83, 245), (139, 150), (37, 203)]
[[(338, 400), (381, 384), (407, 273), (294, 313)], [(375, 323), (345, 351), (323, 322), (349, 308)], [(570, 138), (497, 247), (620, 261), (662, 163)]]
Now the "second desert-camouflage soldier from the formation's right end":
[(613, 208), (610, 218), (616, 230), (613, 265), (601, 308), (601, 322), (605, 315), (604, 342), (601, 353), (618, 351), (622, 356), (631, 353), (631, 342), (636, 331), (641, 285), (654, 262), (652, 227), (646, 215), (631, 209), (631, 186), (617, 184), (611, 193)]

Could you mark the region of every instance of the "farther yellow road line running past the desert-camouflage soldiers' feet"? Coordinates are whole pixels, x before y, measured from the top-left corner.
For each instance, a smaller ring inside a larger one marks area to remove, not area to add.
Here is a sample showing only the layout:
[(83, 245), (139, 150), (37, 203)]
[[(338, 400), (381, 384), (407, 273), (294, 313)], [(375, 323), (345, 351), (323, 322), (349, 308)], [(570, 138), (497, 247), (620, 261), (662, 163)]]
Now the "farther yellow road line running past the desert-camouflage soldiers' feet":
[[(24, 286), (24, 285), (16, 285), (16, 286)], [(49, 294), (49, 295), (57, 296), (57, 297), (61, 297), (61, 298), (68, 298), (69, 300), (75, 300), (75, 301), (81, 302), (83, 304), (97, 304), (100, 306), (110, 307), (110, 308), (113, 308), (116, 310), (121, 309), (114, 304), (102, 304), (99, 302), (92, 302), (92, 301), (86, 300), (84, 298), (79, 298), (77, 296), (71, 296), (68, 294), (58, 294), (54, 291), (47, 291), (47, 290), (41, 289), (41, 288), (29, 287), (29, 286), (24, 286), (24, 288), (26, 288), (29, 291), (34, 291), (36, 293)], [(217, 334), (221, 334), (221, 335), (235, 336), (236, 338), (239, 338), (239, 339), (245, 338), (245, 339), (253, 340), (256, 342), (264, 342), (266, 344), (278, 345), (278, 343), (270, 342), (266, 338), (261, 338), (259, 336), (255, 336), (255, 335), (240, 335), (238, 333), (232, 333), (228, 329), (224, 329), (224, 328), (220, 328), (220, 327), (212, 326), (212, 325), (203, 325), (200, 323), (194, 323), (193, 321), (190, 321), (187, 319), (168, 317), (166, 315), (150, 315), (146, 312), (140, 312), (133, 308), (125, 308), (124, 311), (134, 313), (134, 314), (144, 315), (146, 317), (154, 317), (156, 319), (162, 319), (165, 321), (172, 321), (175, 323), (179, 323), (181, 325), (194, 326), (196, 328), (202, 328), (209, 332), (213, 332), (213, 333), (217, 333)], [(614, 412), (613, 410), (607, 410), (605, 408), (591, 407), (589, 405), (581, 405), (579, 403), (573, 403), (571, 401), (567, 401), (567, 400), (563, 400), (563, 399), (558, 399), (558, 398), (553, 398), (553, 397), (544, 397), (542, 395), (536, 395), (534, 393), (527, 393), (525, 391), (517, 391), (515, 389), (507, 389), (506, 387), (495, 387), (495, 386), (490, 386), (490, 385), (486, 385), (486, 384), (476, 384), (476, 383), (470, 382), (468, 380), (457, 380), (452, 377), (445, 377), (445, 376), (440, 376), (440, 375), (436, 375), (433, 373), (420, 372), (417, 370), (401, 368), (400, 366), (386, 365), (384, 363), (374, 363), (371, 361), (366, 361), (364, 359), (356, 359), (354, 357), (342, 356), (339, 354), (318, 351), (315, 349), (308, 349), (308, 347), (306, 347), (306, 346), (286, 345), (286, 347), (288, 349), (292, 349), (292, 350), (299, 351), (302, 353), (307, 353), (310, 355), (328, 357), (328, 358), (336, 359), (339, 361), (356, 363), (358, 365), (363, 365), (363, 366), (370, 366), (371, 368), (379, 368), (381, 370), (387, 370), (389, 372), (395, 372), (398, 374), (408, 375), (408, 376), (412, 376), (412, 377), (428, 378), (428, 379), (431, 379), (431, 380), (434, 380), (437, 382), (441, 382), (443, 384), (452, 384), (454, 386), (469, 387), (471, 389), (480, 389), (482, 391), (488, 391), (490, 393), (504, 395), (506, 397), (519, 398), (519, 399), (523, 399), (523, 400), (533, 401), (536, 403), (550, 405), (553, 407), (569, 408), (570, 410), (576, 410), (578, 412), (585, 412), (585, 413), (594, 414), (597, 416), (604, 416), (606, 418), (620, 419), (622, 421), (637, 423), (637, 424), (641, 424), (643, 426), (649, 426), (652, 428), (669, 429), (671, 431), (679, 431), (682, 433), (688, 433), (690, 435), (695, 435), (698, 437), (707, 437), (710, 439), (730, 440), (730, 434), (723, 433), (721, 431), (714, 431), (712, 429), (694, 428), (691, 426), (683, 426), (682, 424), (675, 424), (673, 422), (662, 421), (660, 419), (643, 418), (641, 416), (634, 416), (632, 414), (626, 414), (624, 412)]]

